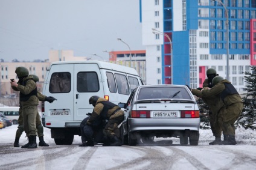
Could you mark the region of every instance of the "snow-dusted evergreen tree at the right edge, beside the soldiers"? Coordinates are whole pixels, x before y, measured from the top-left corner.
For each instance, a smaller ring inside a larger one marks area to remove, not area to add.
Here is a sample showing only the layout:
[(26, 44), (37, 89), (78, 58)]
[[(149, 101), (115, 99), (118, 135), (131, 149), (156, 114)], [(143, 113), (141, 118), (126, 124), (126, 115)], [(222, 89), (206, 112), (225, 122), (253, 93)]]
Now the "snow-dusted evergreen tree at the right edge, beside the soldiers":
[(250, 66), (252, 73), (245, 72), (246, 96), (243, 97), (244, 110), (237, 120), (237, 125), (245, 129), (256, 129), (256, 66)]

